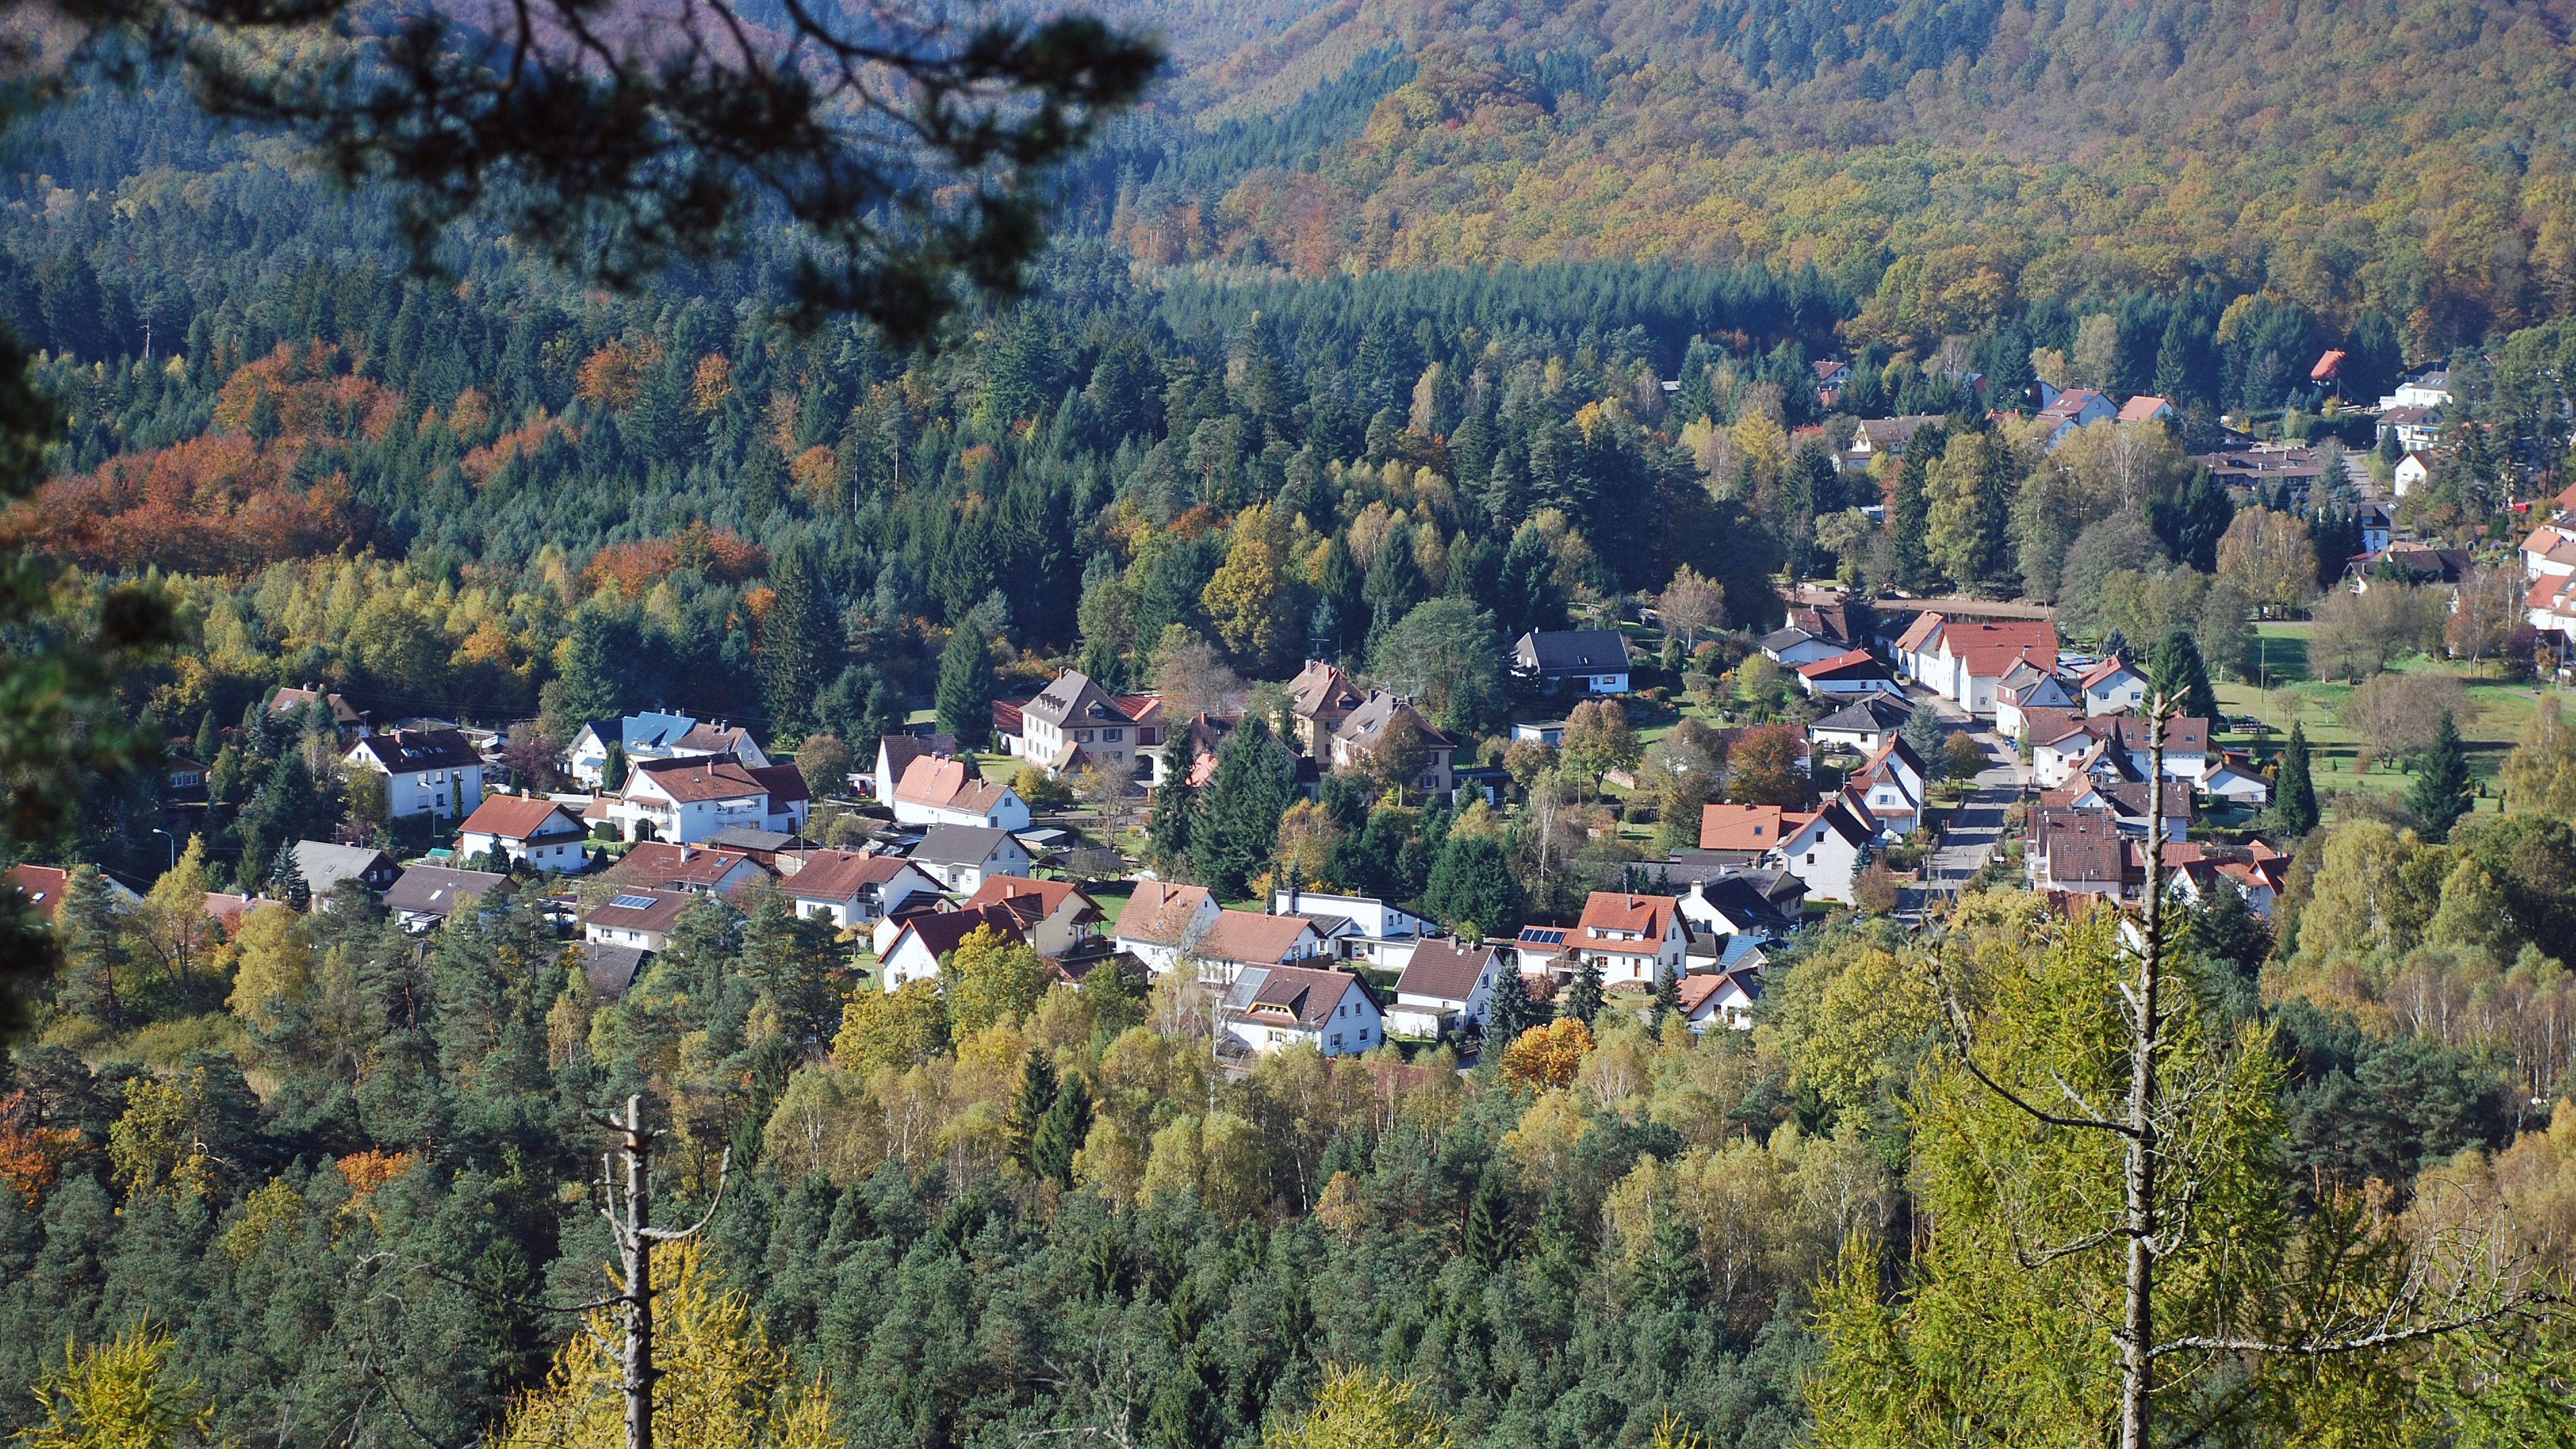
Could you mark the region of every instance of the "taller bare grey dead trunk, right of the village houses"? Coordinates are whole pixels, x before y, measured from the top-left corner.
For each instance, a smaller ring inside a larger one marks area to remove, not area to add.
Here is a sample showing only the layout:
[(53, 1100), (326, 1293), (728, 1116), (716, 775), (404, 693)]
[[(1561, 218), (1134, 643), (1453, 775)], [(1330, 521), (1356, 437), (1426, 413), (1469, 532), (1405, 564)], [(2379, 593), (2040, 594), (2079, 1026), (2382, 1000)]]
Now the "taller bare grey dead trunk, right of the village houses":
[(2148, 1449), (2148, 1398), (2156, 1392), (2156, 1009), (2164, 965), (2164, 715), (2159, 692), (2146, 710), (2146, 950), (2138, 952), (2138, 1014), (2128, 1042), (2128, 1302), (2120, 1318), (2120, 1449)]

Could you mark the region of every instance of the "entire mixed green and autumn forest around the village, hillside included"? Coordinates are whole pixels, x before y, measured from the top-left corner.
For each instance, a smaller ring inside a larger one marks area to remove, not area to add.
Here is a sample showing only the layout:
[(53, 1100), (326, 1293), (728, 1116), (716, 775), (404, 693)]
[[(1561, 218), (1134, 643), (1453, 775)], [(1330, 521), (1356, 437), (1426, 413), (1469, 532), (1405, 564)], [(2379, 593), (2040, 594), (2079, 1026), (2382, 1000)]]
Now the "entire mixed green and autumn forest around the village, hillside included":
[[(533, 888), (430, 932), (358, 885), (211, 909), (299, 839), (446, 844), (281, 685), (502, 731), (518, 788), (675, 708), (842, 795), (878, 736), (989, 744), (1079, 669), (1244, 715), (1128, 834), (1084, 798), (1103, 844), (1507, 942), (1669, 888), (1703, 806), (1832, 798), (1757, 646), (1832, 582), (2043, 607), (2200, 718), (2313, 615), (2354, 728), (2447, 749), (2329, 818), (2275, 741), (2239, 834), (2282, 888), (2164, 916), (2197, 1176), (2159, 1444), (2576, 1444), (2576, 736), (2540, 703), (2491, 795), (2465, 705), (2398, 697), (2442, 656), (2530, 682), (2509, 546), (2576, 481), (2563, 5), (1118, 13), (1164, 82), (1059, 178), (1025, 296), (922, 345), (809, 327), (786, 226), (608, 288), (477, 219), (422, 270), (381, 196), (175, 82), (8, 124), (0, 327), (59, 427), (0, 546), (62, 566), (49, 620), (170, 605), (111, 690), (204, 795), (147, 762), (39, 818), (13, 780), (0, 857), (70, 875), (0, 1060), (0, 1426), (106, 1444), (126, 1390), (118, 1444), (616, 1444), (577, 1305), (641, 1099), (659, 1220), (708, 1215), (667, 1256), (677, 1444), (2112, 1444), (2117, 1150), (1994, 1094), (2115, 1102), (2141, 947), (2004, 865), (1819, 901), (1747, 1029), (1577, 981), (1510, 1035), (1231, 1071), (1180, 975), (969, 937), (881, 991), (778, 883), (696, 898), (621, 991)], [(2344, 458), (2401, 461), (2349, 404), (2434, 365), (2391, 512), (2476, 564), (2455, 607), (2339, 589)], [(2058, 438), (2043, 386), (2172, 409)], [(2321, 463), (2228, 489), (2257, 435)], [(1651, 744), (1602, 705), (1510, 734), (1561, 710), (1512, 643), (1569, 625), (1636, 641)], [(1296, 798), (1309, 659), (1497, 798)]]

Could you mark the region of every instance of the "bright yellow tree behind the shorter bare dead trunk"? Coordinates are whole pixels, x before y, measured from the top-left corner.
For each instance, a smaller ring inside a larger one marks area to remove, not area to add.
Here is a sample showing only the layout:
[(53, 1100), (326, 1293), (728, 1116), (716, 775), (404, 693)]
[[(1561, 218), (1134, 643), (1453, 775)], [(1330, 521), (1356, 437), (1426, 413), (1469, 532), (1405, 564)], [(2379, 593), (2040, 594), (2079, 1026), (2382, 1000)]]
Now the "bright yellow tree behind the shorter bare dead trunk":
[[(840, 1449), (832, 1395), (819, 1380), (799, 1382), (783, 1349), (752, 1315), (742, 1292), (726, 1292), (698, 1243), (654, 1253), (654, 1439), (685, 1449)], [(510, 1408), (497, 1444), (554, 1449), (621, 1449), (626, 1444), (623, 1369), (611, 1343), (626, 1328), (616, 1310), (590, 1315), (587, 1331), (554, 1356), (546, 1387)]]

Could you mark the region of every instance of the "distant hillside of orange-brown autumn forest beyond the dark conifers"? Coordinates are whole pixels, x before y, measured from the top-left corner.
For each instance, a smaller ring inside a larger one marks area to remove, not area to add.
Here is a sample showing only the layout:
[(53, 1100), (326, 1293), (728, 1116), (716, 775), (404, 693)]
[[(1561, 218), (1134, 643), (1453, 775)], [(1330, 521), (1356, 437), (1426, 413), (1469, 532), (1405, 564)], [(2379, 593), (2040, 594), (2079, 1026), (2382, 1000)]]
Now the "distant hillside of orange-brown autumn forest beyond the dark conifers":
[[(1937, 345), (2264, 288), (2439, 350), (2576, 306), (2566, 5), (1345, 0), (1190, 72), (1157, 260), (1806, 263)], [(1239, 126), (1247, 116), (1285, 126)], [(1162, 142), (1154, 142), (1159, 147)], [(1218, 160), (1221, 157), (1221, 160)]]

